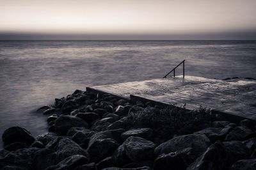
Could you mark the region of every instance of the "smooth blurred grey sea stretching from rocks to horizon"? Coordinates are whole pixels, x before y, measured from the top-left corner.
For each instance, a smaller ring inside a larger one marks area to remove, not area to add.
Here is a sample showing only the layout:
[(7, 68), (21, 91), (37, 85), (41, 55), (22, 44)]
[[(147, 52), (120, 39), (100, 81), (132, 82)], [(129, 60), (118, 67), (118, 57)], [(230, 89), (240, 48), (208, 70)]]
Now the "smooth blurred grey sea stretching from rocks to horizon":
[(186, 75), (256, 78), (256, 41), (0, 41), (0, 135), (17, 125), (47, 132), (36, 109), (54, 98), (162, 78), (184, 59)]

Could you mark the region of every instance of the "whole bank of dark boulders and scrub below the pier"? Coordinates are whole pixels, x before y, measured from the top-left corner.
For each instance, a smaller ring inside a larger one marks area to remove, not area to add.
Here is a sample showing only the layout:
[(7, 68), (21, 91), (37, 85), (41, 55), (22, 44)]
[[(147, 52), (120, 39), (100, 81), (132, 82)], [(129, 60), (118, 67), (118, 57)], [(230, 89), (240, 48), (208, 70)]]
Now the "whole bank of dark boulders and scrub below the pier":
[(49, 115), (49, 133), (6, 129), (0, 169), (256, 169), (255, 124), (234, 124), (205, 108), (76, 90), (38, 111)]

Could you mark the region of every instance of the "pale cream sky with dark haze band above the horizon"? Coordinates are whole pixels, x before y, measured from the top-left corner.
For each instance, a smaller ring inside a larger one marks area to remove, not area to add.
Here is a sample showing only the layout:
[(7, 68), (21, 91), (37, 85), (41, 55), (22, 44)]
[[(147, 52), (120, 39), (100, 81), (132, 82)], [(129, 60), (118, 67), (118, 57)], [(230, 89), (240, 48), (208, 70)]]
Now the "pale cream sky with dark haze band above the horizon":
[(256, 39), (255, 0), (0, 0), (0, 39)]

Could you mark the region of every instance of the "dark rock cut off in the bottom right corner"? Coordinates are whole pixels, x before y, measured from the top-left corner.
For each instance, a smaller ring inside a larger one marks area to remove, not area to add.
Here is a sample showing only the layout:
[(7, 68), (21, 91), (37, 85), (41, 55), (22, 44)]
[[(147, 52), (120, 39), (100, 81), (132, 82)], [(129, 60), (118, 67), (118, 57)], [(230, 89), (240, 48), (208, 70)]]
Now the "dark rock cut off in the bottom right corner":
[(253, 170), (256, 169), (256, 159), (237, 160), (230, 169), (234, 170)]

